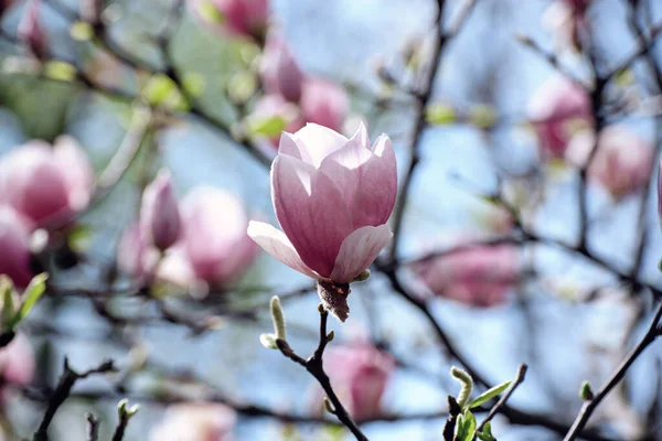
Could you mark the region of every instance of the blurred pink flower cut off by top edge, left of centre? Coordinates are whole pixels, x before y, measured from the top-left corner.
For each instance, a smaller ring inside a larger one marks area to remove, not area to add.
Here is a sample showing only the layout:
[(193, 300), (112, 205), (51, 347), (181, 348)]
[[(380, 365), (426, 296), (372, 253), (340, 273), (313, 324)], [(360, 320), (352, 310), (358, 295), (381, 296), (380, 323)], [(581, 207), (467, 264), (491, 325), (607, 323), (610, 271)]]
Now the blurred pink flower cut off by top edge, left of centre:
[(216, 32), (260, 40), (269, 19), (268, 0), (189, 0), (194, 14)]

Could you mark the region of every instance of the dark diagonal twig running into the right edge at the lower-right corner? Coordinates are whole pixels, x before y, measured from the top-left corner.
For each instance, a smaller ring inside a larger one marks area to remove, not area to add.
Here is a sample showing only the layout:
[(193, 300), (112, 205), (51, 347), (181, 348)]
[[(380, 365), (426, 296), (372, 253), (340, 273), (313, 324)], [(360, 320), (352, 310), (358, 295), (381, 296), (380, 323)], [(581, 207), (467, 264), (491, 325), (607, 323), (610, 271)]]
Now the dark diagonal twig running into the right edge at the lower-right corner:
[(600, 390), (595, 395), (592, 399), (586, 400), (581, 409), (579, 410), (579, 415), (575, 419), (573, 427), (564, 438), (564, 441), (573, 441), (577, 437), (581, 434), (581, 431), (586, 427), (588, 419), (596, 410), (598, 405), (605, 399), (605, 397), (609, 394), (609, 391), (616, 387), (626, 376), (626, 373), (632, 366), (632, 364), (637, 361), (637, 358), (643, 353), (643, 351), (655, 341), (655, 338), (660, 335), (659, 322), (662, 316), (662, 301), (658, 304), (658, 309), (651, 321), (651, 324), (648, 329), (648, 332), (643, 336), (643, 338), (639, 342), (639, 344), (630, 352), (627, 358), (621, 363), (621, 365), (616, 369), (616, 372), (611, 375), (611, 377), (607, 380), (607, 383), (600, 388)]

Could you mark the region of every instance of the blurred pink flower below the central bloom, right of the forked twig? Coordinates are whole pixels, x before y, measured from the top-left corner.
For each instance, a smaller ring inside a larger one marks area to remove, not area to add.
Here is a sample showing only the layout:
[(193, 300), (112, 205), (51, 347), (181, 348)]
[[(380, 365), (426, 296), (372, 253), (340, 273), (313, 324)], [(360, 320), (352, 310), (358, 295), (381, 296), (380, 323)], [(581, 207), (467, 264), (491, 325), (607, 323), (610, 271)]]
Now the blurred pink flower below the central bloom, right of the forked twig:
[[(324, 354), (324, 370), (340, 401), (356, 421), (382, 415), (382, 396), (395, 369), (394, 359), (367, 343), (331, 347)], [(323, 398), (316, 385), (314, 400)]]

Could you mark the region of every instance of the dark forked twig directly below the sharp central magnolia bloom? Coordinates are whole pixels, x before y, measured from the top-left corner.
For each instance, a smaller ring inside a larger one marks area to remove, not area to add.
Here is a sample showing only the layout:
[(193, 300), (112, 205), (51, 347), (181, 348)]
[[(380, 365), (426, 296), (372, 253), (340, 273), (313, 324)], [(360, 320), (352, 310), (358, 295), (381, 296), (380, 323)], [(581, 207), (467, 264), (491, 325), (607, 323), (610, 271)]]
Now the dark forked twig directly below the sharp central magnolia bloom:
[(308, 359), (303, 359), (302, 357), (297, 355), (285, 340), (279, 338), (276, 341), (276, 343), (282, 355), (290, 358), (295, 363), (306, 367), (306, 369), (318, 380), (320, 386), (322, 386), (322, 389), (324, 389), (327, 397), (333, 405), (333, 415), (338, 417), (340, 422), (342, 422), (348, 429), (350, 429), (350, 431), (356, 438), (356, 440), (367, 441), (365, 434), (363, 434), (361, 429), (359, 429), (356, 422), (354, 422), (352, 417), (343, 407), (342, 402), (340, 402), (340, 399), (338, 398), (335, 391), (333, 390), (333, 387), (331, 386), (331, 380), (324, 372), (322, 356), (324, 355), (324, 348), (327, 347), (327, 344), (330, 341), (329, 334), (327, 333), (327, 321), (329, 319), (329, 312), (327, 312), (327, 310), (324, 310), (324, 308), (321, 304), (318, 309), (320, 312), (320, 341), (318, 347), (314, 349), (314, 353), (310, 357), (308, 357)]

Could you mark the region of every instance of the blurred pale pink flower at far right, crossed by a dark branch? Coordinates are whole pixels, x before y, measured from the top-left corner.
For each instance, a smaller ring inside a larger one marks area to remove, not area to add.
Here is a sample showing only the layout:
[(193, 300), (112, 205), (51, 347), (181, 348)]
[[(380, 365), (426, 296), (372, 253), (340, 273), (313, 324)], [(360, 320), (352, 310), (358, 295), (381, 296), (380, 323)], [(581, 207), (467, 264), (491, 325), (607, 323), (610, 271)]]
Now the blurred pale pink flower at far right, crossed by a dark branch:
[[(567, 160), (584, 166), (595, 144), (592, 131), (573, 138)], [(621, 126), (600, 131), (598, 150), (587, 170), (588, 179), (597, 182), (616, 198), (644, 187), (651, 176), (653, 149), (643, 139)]]

